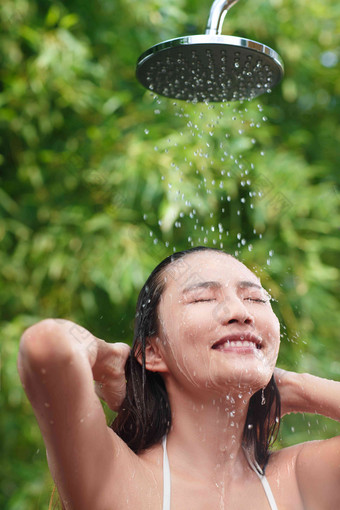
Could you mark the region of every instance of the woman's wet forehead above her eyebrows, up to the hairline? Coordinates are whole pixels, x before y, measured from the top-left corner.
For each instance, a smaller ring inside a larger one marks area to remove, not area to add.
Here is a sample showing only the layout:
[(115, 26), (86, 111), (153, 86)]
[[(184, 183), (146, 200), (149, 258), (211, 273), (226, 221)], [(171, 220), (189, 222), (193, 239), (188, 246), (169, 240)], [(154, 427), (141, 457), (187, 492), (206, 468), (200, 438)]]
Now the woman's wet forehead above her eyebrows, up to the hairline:
[(230, 255), (206, 251), (190, 253), (176, 260), (164, 271), (164, 292), (181, 293), (191, 285), (204, 281), (215, 281), (232, 286), (239, 281), (251, 281), (260, 285), (260, 280), (244, 264)]

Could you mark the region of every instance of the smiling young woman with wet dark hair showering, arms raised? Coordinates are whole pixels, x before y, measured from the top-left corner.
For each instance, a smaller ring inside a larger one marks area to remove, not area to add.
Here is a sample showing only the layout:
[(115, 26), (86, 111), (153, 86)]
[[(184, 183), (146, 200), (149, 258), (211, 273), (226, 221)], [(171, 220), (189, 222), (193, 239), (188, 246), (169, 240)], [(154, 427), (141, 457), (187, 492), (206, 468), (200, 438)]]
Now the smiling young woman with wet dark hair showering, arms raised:
[(131, 355), (69, 321), (29, 328), (19, 374), (65, 509), (340, 508), (340, 437), (269, 453), (280, 414), (340, 420), (340, 383), (275, 368), (279, 343), (258, 277), (207, 248), (150, 275)]

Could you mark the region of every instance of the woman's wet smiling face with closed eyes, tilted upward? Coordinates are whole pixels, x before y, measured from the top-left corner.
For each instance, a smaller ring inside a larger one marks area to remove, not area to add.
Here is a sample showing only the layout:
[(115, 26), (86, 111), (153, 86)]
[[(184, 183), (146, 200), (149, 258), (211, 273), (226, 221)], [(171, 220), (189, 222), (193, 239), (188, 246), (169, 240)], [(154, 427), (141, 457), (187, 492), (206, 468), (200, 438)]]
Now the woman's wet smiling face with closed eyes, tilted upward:
[(264, 387), (274, 371), (280, 329), (259, 279), (214, 251), (186, 255), (163, 277), (158, 343), (166, 380), (220, 395)]

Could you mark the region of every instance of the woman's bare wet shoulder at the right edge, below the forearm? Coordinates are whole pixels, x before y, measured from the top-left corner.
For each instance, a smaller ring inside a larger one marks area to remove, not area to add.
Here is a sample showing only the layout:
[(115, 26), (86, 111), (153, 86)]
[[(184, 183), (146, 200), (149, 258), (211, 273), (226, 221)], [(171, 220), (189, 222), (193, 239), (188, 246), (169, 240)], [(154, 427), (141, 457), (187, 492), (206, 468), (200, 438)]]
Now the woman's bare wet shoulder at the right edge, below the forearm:
[(294, 498), (294, 508), (340, 508), (340, 438), (309, 441), (273, 452), (266, 475), (284, 500), (288, 494)]

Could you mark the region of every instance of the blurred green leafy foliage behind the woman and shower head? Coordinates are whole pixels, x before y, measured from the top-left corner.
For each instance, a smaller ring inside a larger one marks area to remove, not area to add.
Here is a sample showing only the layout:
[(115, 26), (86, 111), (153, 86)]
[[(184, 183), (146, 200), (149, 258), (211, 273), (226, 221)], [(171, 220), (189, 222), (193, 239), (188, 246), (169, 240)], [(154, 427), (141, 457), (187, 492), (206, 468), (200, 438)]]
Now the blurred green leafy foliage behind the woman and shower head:
[[(223, 33), (285, 62), (271, 94), (213, 107), (153, 97), (138, 56), (203, 33), (210, 5), (1, 1), (1, 509), (45, 509), (53, 487), (16, 371), (22, 331), (65, 317), (130, 342), (138, 291), (174, 249), (236, 253), (273, 296), (280, 365), (340, 380), (340, 4), (231, 9)], [(335, 433), (289, 416), (277, 447)]]

